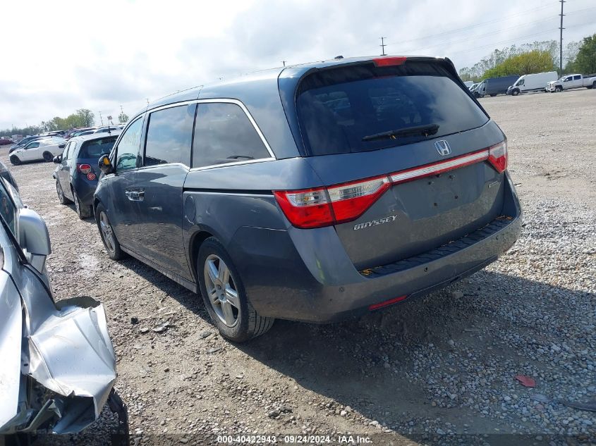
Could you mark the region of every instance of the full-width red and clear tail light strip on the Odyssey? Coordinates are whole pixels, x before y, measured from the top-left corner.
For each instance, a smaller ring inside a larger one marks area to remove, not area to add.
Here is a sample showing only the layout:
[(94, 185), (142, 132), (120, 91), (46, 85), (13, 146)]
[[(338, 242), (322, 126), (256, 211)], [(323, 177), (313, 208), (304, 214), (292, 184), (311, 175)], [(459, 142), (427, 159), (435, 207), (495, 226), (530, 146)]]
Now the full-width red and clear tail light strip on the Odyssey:
[(365, 213), (392, 185), (469, 166), (480, 161), (502, 173), (507, 168), (506, 140), (469, 154), (404, 171), (328, 187), (304, 190), (275, 190), (274, 197), (286, 218), (296, 228), (322, 228), (353, 221)]

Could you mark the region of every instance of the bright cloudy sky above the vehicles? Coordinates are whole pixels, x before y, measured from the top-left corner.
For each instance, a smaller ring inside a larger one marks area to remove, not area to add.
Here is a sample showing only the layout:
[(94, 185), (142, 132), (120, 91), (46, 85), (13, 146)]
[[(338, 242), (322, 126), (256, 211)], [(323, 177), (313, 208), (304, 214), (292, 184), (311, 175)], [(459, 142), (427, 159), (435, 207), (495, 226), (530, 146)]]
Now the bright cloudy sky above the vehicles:
[[(0, 129), (76, 109), (128, 115), (166, 94), (334, 56), (447, 56), (559, 39), (557, 0), (4, 0)], [(564, 46), (596, 33), (594, 0), (566, 0)]]

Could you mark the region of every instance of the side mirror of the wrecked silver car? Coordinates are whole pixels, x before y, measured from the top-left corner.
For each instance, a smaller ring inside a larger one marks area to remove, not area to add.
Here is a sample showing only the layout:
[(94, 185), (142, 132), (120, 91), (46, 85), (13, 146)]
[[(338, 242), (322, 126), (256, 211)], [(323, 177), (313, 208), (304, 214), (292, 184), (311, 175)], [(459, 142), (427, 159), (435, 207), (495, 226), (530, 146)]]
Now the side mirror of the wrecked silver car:
[(31, 266), (43, 273), (47, 256), (51, 254), (51, 243), (46, 223), (37, 212), (28, 208), (20, 209), (18, 242)]

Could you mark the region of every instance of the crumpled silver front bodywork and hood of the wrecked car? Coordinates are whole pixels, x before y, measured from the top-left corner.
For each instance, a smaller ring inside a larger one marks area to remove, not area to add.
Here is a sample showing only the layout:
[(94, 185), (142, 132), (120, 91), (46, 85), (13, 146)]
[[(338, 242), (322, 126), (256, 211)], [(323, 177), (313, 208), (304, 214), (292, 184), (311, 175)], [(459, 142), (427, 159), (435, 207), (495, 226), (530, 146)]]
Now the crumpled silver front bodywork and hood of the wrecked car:
[(102, 304), (19, 295), (5, 271), (0, 289), (0, 433), (83, 430), (116, 380)]

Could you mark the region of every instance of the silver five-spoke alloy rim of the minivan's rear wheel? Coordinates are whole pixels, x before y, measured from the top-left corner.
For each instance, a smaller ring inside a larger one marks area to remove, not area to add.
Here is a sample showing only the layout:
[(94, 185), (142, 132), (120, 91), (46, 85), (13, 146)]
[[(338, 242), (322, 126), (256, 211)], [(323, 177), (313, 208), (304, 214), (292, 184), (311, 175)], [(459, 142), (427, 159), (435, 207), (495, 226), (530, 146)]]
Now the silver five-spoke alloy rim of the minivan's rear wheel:
[(240, 316), (238, 291), (228, 266), (215, 254), (205, 260), (205, 288), (213, 311), (228, 327), (236, 326)]

